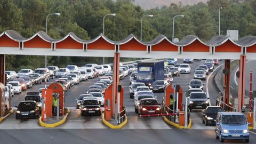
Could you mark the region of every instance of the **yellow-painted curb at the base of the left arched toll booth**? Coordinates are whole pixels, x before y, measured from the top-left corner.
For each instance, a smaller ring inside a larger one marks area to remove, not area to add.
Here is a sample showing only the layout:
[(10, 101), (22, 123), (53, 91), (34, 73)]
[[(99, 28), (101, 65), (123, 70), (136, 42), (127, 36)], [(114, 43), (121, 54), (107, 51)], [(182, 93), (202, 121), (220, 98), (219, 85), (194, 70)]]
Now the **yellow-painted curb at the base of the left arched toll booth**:
[(68, 117), (68, 114), (70, 113), (70, 110), (68, 108), (64, 109), (64, 115), (59, 117), (59, 120), (56, 116), (47, 117), (46, 121), (42, 121), (42, 116), (39, 117), (39, 124), (43, 127), (56, 127), (59, 125), (62, 125), (66, 122), (66, 119)]

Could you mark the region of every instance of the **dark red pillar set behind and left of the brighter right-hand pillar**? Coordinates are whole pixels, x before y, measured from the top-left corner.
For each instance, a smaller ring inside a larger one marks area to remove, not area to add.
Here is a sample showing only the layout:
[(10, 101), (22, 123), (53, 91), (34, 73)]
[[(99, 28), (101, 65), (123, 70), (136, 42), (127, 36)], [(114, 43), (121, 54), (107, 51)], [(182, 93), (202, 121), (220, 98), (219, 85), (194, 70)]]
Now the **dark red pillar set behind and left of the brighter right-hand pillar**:
[(225, 93), (224, 93), (224, 102), (229, 105), (229, 97), (230, 97), (230, 60), (225, 60), (225, 69), (228, 69), (228, 74), (224, 75), (224, 85)]

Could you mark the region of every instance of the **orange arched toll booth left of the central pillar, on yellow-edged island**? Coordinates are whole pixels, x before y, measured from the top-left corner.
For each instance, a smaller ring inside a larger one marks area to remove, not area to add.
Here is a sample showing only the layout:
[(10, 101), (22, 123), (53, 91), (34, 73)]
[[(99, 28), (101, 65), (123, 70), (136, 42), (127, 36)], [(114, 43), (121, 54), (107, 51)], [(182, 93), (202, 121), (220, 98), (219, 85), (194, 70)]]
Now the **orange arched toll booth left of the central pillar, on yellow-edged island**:
[(64, 94), (65, 88), (60, 83), (53, 83), (51, 84), (47, 90), (45, 95), (45, 90), (43, 90), (43, 99), (45, 99), (44, 108), (42, 108), (42, 118), (44, 114), (46, 114), (46, 117), (52, 117), (52, 100), (53, 95), (55, 93), (58, 93), (59, 95), (59, 116), (64, 115), (64, 107), (65, 107), (65, 94)]

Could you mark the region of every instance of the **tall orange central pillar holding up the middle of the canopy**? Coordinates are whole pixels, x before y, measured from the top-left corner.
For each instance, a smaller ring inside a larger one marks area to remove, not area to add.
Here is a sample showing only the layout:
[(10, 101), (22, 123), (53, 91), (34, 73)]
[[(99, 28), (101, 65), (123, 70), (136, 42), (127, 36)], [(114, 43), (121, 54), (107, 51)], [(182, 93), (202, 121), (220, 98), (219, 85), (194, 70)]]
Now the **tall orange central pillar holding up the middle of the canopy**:
[(119, 85), (119, 60), (120, 60), (120, 54), (119, 53), (115, 53), (114, 56), (114, 63), (113, 63), (113, 95), (112, 95), (112, 113), (111, 113), (111, 117), (115, 118), (115, 105), (118, 101), (118, 93), (117, 93), (117, 87)]

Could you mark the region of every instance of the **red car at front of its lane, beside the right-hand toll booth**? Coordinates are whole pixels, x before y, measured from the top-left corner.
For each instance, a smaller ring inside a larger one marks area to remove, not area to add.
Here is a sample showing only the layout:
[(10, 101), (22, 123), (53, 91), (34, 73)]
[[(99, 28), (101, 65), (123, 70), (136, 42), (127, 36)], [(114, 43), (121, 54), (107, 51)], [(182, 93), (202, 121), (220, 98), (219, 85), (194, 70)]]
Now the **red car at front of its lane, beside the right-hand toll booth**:
[(141, 99), (138, 104), (138, 115), (161, 114), (161, 107), (156, 99)]

